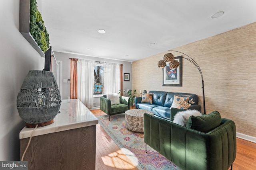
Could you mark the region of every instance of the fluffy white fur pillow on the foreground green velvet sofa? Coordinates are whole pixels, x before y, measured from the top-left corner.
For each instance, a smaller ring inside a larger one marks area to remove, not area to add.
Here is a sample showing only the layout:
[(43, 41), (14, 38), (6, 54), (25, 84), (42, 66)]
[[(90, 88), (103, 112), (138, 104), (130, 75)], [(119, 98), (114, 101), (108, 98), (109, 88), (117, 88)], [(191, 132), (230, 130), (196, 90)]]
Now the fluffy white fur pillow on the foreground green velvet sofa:
[(179, 111), (174, 116), (173, 123), (176, 123), (178, 125), (186, 126), (188, 118), (192, 115), (200, 116), (202, 113), (197, 110), (185, 110), (185, 111)]

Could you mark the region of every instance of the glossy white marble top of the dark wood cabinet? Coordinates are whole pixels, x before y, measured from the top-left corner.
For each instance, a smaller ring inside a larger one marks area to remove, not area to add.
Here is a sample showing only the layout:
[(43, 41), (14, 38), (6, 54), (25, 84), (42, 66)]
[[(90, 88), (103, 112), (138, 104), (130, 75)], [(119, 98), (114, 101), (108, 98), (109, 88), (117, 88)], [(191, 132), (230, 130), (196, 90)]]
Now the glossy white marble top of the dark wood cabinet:
[[(38, 127), (32, 136), (45, 135), (96, 124), (98, 124), (98, 119), (80, 102), (80, 100), (62, 100), (60, 113), (54, 118), (54, 123), (44, 127)], [(24, 127), (22, 131), (20, 131), (20, 139), (30, 137), (33, 130), (34, 128)]]

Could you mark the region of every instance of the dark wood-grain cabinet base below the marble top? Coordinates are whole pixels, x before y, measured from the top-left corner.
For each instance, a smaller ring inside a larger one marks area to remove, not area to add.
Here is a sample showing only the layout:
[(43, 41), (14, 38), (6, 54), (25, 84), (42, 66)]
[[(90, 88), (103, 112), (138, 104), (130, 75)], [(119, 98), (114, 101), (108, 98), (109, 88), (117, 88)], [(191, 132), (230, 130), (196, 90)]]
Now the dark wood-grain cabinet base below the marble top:
[[(20, 159), (29, 138), (20, 139)], [(96, 125), (32, 137), (29, 170), (95, 170)]]

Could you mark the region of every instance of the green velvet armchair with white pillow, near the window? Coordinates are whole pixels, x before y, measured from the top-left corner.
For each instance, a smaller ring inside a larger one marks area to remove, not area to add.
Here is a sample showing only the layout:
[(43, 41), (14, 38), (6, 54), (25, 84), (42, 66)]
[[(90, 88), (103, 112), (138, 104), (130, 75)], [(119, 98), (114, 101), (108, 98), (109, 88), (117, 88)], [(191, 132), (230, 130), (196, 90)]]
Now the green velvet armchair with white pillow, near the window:
[(104, 111), (109, 115), (109, 121), (111, 115), (116, 115), (119, 113), (124, 113), (126, 110), (130, 109), (130, 98), (125, 96), (119, 96), (120, 104), (111, 104), (110, 99), (106, 98), (106, 95), (100, 97), (100, 114)]

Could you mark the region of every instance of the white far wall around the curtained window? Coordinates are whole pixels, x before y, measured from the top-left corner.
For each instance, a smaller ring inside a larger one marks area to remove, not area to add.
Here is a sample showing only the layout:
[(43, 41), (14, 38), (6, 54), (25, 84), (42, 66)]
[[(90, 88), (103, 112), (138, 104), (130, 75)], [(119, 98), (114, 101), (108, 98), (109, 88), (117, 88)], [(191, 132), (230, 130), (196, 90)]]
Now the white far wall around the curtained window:
[[(52, 47), (54, 50), (54, 45)], [(110, 59), (102, 59), (98, 57), (89, 57), (84, 55), (76, 55), (76, 54), (69, 54), (69, 53), (60, 53), (54, 51), (54, 55), (56, 60), (62, 61), (62, 92), (61, 98), (67, 99), (70, 96), (70, 84), (64, 83), (63, 79), (70, 79), (70, 59), (69, 58), (77, 58), (77, 59), (86, 59), (86, 60), (94, 60), (94, 61), (102, 61), (108, 63), (118, 63), (123, 64), (123, 73), (130, 73), (130, 81), (124, 81), (124, 89), (131, 89), (132, 88), (132, 64), (131, 62), (126, 61), (117, 61), (117, 60), (110, 60)], [(97, 103), (96, 107), (99, 107), (100, 104), (99, 98), (94, 98), (93, 102)]]

